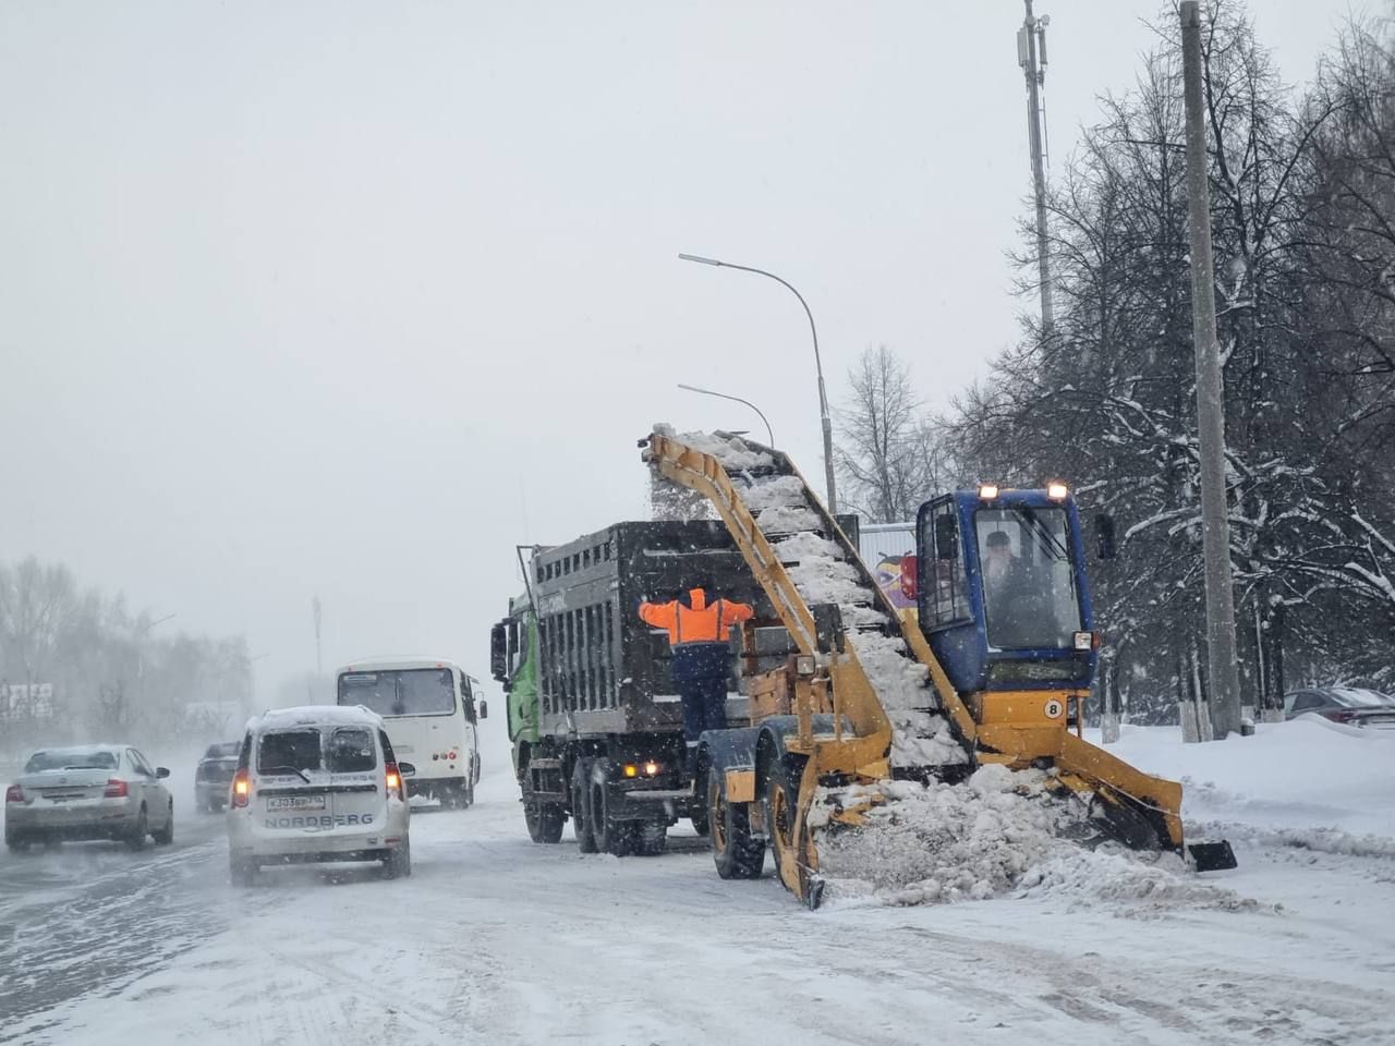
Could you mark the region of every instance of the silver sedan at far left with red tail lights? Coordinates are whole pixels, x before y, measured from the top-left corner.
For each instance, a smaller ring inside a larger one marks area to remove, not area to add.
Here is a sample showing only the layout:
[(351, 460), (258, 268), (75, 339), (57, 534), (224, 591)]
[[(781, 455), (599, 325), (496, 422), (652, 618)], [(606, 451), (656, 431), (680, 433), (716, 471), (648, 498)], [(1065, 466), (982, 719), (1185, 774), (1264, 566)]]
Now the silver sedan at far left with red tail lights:
[(4, 842), (117, 840), (131, 849), (174, 841), (170, 771), (127, 745), (39, 749), (4, 794)]

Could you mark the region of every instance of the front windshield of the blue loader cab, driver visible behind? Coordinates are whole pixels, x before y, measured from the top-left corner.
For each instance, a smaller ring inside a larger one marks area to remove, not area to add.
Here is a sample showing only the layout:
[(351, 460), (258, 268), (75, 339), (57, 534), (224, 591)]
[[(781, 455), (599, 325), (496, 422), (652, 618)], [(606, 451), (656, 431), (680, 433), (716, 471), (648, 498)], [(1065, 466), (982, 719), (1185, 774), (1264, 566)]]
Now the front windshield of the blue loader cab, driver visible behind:
[(1066, 510), (979, 509), (974, 526), (989, 647), (1070, 649), (1081, 621)]

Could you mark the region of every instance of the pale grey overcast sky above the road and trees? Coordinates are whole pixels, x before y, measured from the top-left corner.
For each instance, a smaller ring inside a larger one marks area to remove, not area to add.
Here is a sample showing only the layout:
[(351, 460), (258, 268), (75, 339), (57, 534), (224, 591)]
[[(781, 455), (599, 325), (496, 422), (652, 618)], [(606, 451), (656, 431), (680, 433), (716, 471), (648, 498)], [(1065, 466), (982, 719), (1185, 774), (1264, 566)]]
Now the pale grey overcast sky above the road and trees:
[[(1310, 78), (1345, 0), (1256, 0)], [(1355, 10), (1363, 10), (1357, 6)], [(1056, 158), (1151, 0), (1038, 0)], [(822, 474), (884, 342), (942, 402), (1034, 300), (1021, 3), (0, 1), (0, 558), (162, 629), (484, 678), (515, 543), (643, 517), (651, 421)], [(1057, 160), (1059, 163), (1059, 160)], [(492, 683), (490, 685), (492, 690)]]

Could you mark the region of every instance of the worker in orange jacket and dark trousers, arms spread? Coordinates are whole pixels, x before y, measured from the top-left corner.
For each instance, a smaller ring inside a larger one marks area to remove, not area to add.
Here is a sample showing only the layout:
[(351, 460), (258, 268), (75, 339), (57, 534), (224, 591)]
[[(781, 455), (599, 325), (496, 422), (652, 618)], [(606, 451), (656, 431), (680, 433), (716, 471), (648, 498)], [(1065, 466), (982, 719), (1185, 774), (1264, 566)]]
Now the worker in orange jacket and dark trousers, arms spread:
[(684, 738), (689, 750), (704, 729), (727, 725), (727, 678), (731, 675), (727, 635), (752, 614), (745, 602), (707, 602), (707, 593), (700, 587), (688, 590), (686, 607), (679, 600), (639, 605), (640, 621), (668, 632), (674, 654), (670, 675), (684, 702)]

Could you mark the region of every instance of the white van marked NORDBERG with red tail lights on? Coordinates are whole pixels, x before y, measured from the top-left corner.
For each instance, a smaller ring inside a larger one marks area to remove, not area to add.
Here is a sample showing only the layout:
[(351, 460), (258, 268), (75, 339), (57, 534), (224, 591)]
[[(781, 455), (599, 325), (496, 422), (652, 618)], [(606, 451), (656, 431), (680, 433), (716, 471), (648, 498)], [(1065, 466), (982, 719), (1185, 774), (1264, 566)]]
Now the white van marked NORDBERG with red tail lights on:
[(311, 704), (250, 720), (229, 789), (233, 883), (315, 861), (381, 861), (389, 879), (410, 876), (403, 777), (413, 770), (368, 708)]

